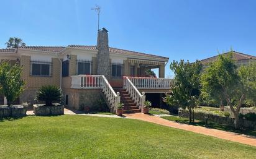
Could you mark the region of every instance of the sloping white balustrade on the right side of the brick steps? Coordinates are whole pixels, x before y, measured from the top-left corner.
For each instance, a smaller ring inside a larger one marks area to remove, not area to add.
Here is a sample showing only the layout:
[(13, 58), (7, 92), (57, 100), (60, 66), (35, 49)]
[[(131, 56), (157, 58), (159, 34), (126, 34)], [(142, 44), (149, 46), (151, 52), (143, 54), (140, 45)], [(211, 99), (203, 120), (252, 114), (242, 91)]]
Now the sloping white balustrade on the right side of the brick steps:
[(126, 91), (129, 93), (130, 97), (135, 101), (137, 106), (139, 108), (143, 108), (145, 103), (145, 92), (142, 92), (142, 94), (139, 92), (139, 90), (135, 87), (134, 84), (130, 81), (128, 77), (124, 77), (124, 88), (126, 88)]

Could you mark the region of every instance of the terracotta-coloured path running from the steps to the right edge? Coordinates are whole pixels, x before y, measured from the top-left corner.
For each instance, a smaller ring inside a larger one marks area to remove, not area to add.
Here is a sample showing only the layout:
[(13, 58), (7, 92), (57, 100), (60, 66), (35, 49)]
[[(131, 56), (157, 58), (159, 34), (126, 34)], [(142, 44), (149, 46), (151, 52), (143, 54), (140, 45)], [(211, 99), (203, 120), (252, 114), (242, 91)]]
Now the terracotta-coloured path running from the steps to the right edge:
[(181, 124), (174, 121), (168, 121), (167, 119), (160, 118), (159, 116), (153, 116), (143, 113), (123, 114), (127, 118), (139, 119), (142, 121), (153, 122), (162, 126), (174, 127), (176, 129), (183, 129), (185, 131), (196, 132), (198, 134), (209, 135), (217, 137), (219, 139), (231, 140), (233, 142), (239, 142), (242, 144), (256, 146), (256, 137), (250, 135), (237, 134), (234, 132), (221, 131), (217, 129), (209, 129), (202, 126), (193, 126), (188, 124)]

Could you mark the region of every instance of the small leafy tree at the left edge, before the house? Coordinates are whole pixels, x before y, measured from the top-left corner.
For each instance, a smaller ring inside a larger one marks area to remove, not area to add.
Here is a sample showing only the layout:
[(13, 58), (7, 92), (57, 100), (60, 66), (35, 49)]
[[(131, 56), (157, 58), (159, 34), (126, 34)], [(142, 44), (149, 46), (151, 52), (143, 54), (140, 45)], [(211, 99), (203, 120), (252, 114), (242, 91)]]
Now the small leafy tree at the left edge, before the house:
[(6, 97), (7, 105), (16, 100), (24, 91), (25, 82), (21, 79), (22, 67), (11, 66), (7, 61), (0, 64), (0, 92)]

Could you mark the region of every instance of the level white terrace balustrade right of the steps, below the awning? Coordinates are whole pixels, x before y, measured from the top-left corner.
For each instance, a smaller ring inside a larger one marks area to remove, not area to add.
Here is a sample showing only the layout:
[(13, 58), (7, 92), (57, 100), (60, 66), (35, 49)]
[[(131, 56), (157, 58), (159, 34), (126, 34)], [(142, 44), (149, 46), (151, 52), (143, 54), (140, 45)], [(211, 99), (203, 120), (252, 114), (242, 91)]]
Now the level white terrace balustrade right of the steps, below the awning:
[[(124, 77), (126, 78), (126, 77)], [(139, 89), (170, 89), (173, 79), (155, 77), (127, 77)], [(124, 87), (126, 87), (124, 82)]]

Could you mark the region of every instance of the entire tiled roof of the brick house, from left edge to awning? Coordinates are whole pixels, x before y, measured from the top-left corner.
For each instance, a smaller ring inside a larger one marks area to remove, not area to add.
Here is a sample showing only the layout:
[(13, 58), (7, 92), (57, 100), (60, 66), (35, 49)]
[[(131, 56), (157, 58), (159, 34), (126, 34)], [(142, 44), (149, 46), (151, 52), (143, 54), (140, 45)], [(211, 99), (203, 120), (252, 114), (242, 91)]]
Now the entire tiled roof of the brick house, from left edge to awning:
[[(67, 47), (68, 48), (79, 48), (79, 49), (87, 49), (87, 50), (98, 51), (96, 46), (68, 45)], [(65, 46), (20, 46), (19, 48), (39, 50), (39, 51), (51, 51), (51, 52), (58, 53), (58, 52), (62, 51), (63, 49), (65, 49), (66, 47)], [(7, 53), (8, 50), (15, 53), (16, 49), (0, 49), (0, 53)], [(136, 51), (129, 51), (129, 50), (126, 50), (126, 49), (118, 49), (118, 48), (112, 48), (112, 47), (109, 47), (109, 52), (117, 53), (117, 54), (124, 54), (124, 55), (129, 54), (129, 55), (135, 55), (135, 56), (146, 56), (146, 57), (149, 57), (149, 58), (169, 59), (169, 58), (166, 58), (166, 57), (163, 57), (163, 56), (157, 56), (157, 55), (146, 54), (146, 53), (139, 53), (139, 52), (136, 52)]]

